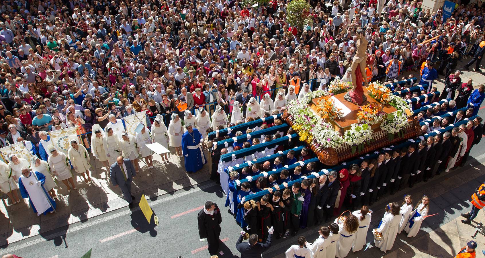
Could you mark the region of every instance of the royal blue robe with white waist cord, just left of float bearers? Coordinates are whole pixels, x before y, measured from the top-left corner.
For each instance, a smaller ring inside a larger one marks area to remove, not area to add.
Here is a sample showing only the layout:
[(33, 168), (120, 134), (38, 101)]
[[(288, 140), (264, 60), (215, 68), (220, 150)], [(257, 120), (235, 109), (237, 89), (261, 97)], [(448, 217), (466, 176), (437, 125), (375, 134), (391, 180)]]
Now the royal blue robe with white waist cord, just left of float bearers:
[(204, 139), (197, 129), (193, 129), (192, 133), (186, 131), (182, 135), (182, 154), (185, 158), (185, 170), (189, 173), (197, 172), (207, 163), (204, 151), (200, 145), (202, 141)]

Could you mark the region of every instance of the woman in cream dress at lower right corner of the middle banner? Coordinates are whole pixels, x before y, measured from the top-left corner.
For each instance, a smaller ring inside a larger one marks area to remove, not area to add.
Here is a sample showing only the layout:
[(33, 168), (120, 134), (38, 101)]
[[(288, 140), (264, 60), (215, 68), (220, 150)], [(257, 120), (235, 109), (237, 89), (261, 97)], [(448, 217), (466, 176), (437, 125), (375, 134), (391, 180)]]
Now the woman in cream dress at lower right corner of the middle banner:
[(74, 171), (81, 175), (86, 184), (91, 184), (92, 180), (89, 176), (89, 169), (91, 168), (89, 161), (91, 158), (86, 148), (78, 144), (77, 140), (71, 140), (71, 147), (67, 150), (67, 156)]

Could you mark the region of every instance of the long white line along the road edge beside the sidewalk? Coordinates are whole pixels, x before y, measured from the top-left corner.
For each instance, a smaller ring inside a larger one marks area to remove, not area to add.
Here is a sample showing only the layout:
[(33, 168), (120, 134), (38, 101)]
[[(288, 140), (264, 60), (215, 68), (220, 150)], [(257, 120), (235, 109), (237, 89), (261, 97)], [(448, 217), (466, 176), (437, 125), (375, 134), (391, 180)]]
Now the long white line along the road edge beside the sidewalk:
[[(198, 187), (198, 188), (192, 188), (189, 191), (185, 191), (185, 192), (179, 193), (179, 194), (174, 194), (174, 195), (162, 198), (160, 200), (150, 202), (150, 205), (154, 206), (154, 205), (157, 205), (157, 204), (161, 204), (163, 202), (168, 202), (168, 201), (171, 201), (173, 199), (177, 199), (178, 197), (182, 197), (182, 196), (185, 196), (187, 194), (193, 194), (193, 193), (199, 192), (201, 190), (204, 190), (206, 188), (210, 188), (210, 187), (215, 186), (215, 185), (216, 185), (215, 182), (212, 182), (210, 184), (207, 184), (207, 185), (204, 185), (204, 186), (201, 186), (201, 187)], [(40, 236), (37, 235), (39, 238), (37, 238), (35, 240), (25, 242), (25, 243), (22, 243), (22, 244), (19, 244), (19, 245), (16, 245), (16, 246), (12, 246), (12, 247), (3, 249), (1, 251), (5, 254), (14, 253), (15, 251), (17, 251), (19, 249), (29, 247), (29, 246), (32, 246), (32, 245), (37, 244), (37, 243), (46, 242), (46, 241), (52, 240), (54, 238), (67, 235), (68, 233), (76, 232), (76, 231), (79, 231), (81, 229), (84, 229), (84, 228), (87, 228), (87, 227), (90, 227), (90, 226), (95, 226), (97, 224), (100, 224), (100, 223), (103, 223), (103, 222), (106, 222), (106, 221), (109, 221), (109, 220), (112, 220), (112, 219), (116, 219), (116, 218), (124, 216), (124, 215), (131, 214), (132, 212), (138, 211), (138, 210), (140, 210), (140, 207), (136, 207), (133, 210), (121, 211), (121, 212), (118, 212), (116, 214), (108, 215), (104, 218), (101, 218), (101, 219), (98, 219), (98, 220), (95, 220), (95, 221), (86, 222), (86, 223), (81, 224), (79, 226), (69, 228), (65, 232), (64, 231), (57, 232), (57, 233), (51, 234), (51, 235), (46, 236), (46, 237), (40, 237)]]

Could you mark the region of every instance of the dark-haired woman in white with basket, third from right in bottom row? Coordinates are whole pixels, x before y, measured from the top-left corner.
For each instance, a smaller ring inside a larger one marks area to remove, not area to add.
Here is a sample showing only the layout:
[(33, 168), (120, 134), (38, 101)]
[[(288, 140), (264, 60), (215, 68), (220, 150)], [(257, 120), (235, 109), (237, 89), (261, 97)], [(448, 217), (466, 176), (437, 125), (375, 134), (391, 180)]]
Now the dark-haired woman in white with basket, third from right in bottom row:
[(375, 247), (379, 247), (384, 253), (392, 249), (402, 217), (399, 204), (389, 203), (377, 228), (377, 231), (382, 233), (382, 240), (374, 240)]

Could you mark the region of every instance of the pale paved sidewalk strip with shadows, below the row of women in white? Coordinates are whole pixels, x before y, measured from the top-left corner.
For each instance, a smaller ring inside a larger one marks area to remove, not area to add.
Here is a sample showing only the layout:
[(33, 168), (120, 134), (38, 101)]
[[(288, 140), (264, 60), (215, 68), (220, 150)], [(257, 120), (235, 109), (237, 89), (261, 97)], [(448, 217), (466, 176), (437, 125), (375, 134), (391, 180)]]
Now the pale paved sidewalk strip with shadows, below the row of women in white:
[[(172, 149), (174, 151), (175, 149)], [(153, 155), (155, 168), (148, 169), (145, 161), (140, 161), (139, 174), (133, 180), (132, 194), (139, 202), (142, 194), (156, 200), (157, 196), (170, 194), (182, 188), (190, 188), (209, 179), (209, 164), (195, 173), (188, 174), (184, 169), (184, 161), (175, 155), (170, 156), (170, 163), (162, 162), (160, 155)], [(57, 213), (37, 216), (22, 200), (20, 204), (12, 205), (7, 201), (6, 194), (1, 196), (0, 204), (0, 246), (43, 234), (52, 229), (68, 226), (76, 222), (85, 222), (97, 215), (127, 207), (119, 187), (113, 187), (109, 171), (101, 162), (91, 155), (91, 185), (77, 177), (78, 190), (67, 192), (65, 185), (57, 185)], [(18, 190), (17, 190), (18, 191)], [(20, 195), (20, 194), (19, 194)]]

